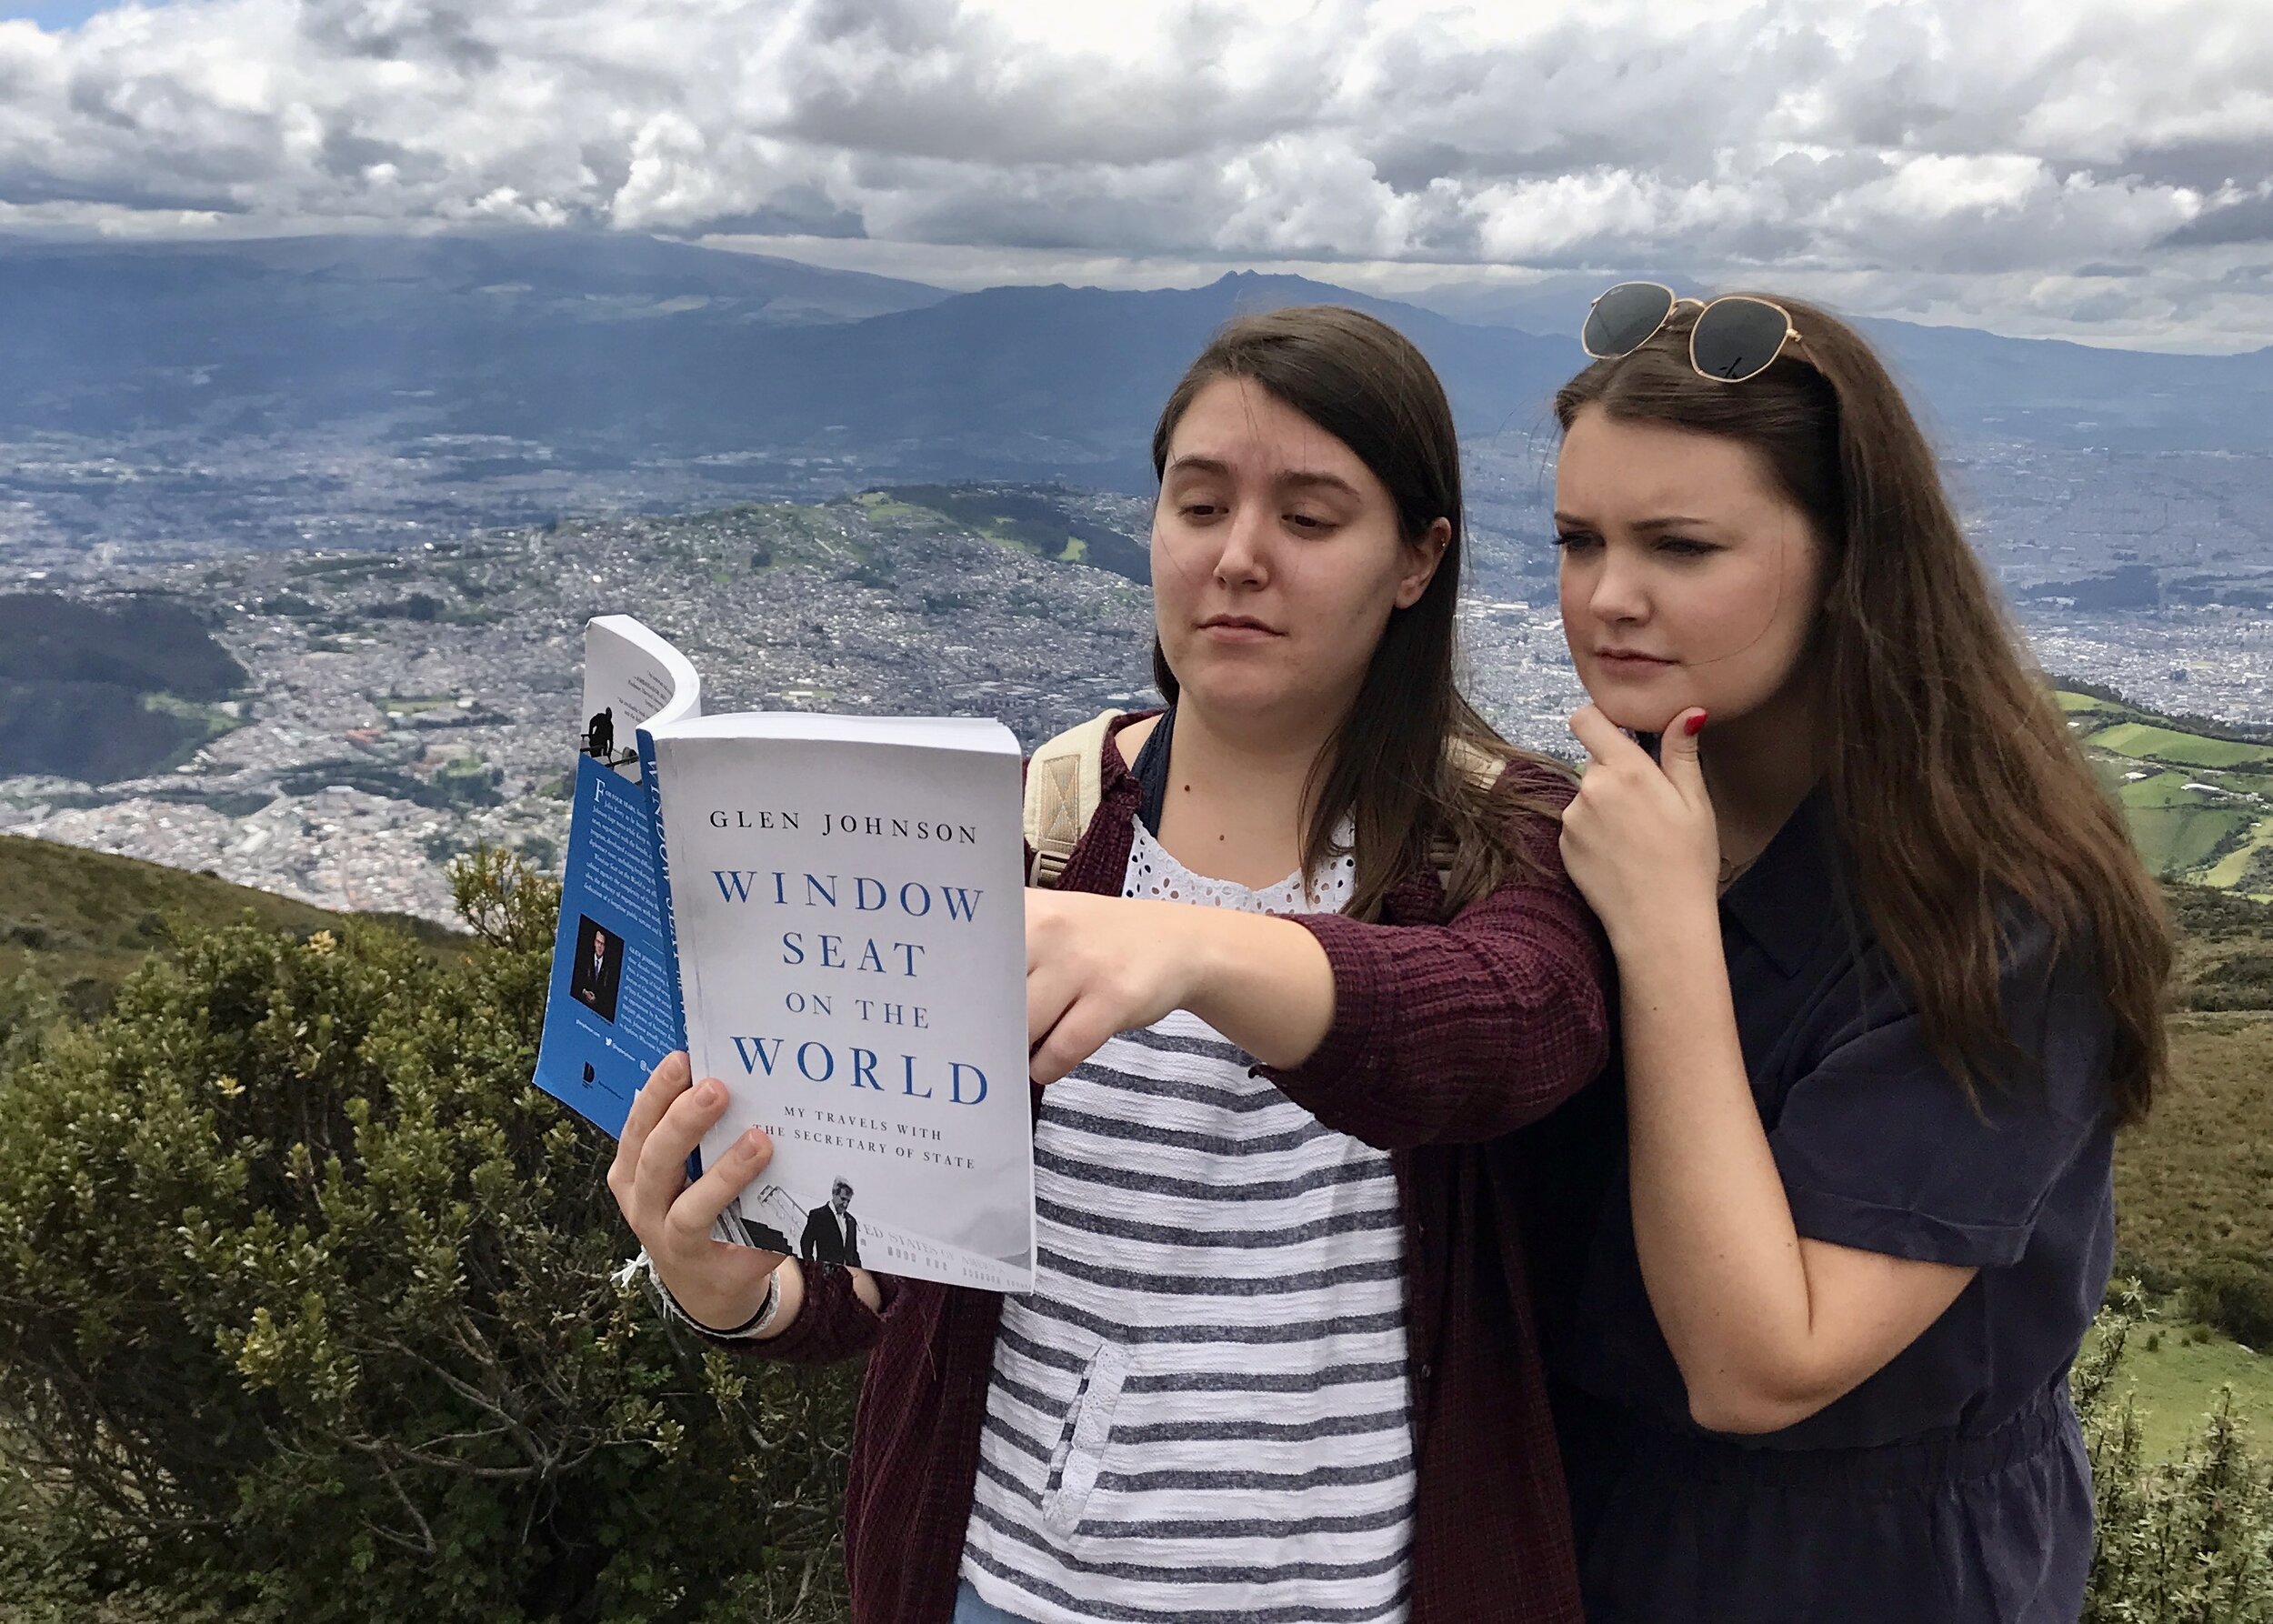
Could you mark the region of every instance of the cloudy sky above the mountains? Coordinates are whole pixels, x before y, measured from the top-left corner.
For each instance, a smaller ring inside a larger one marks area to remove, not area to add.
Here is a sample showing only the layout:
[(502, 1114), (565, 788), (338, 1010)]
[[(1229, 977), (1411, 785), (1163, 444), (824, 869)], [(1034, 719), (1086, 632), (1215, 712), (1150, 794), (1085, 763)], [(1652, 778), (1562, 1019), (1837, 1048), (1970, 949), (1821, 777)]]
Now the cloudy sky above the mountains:
[(0, 0), (0, 232), (484, 225), (2257, 348), (2273, 0)]

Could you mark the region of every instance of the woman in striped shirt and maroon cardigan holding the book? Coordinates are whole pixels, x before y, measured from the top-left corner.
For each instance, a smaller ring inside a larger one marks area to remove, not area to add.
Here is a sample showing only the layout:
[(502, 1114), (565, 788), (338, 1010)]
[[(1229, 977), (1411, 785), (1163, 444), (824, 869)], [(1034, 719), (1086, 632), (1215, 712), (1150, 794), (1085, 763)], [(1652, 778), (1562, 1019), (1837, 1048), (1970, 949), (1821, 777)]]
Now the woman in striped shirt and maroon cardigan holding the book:
[(1482, 1144), (1605, 1060), (1568, 778), (1452, 680), (1443, 391), (1348, 309), (1232, 323), (1152, 441), (1171, 707), (1027, 892), (1036, 1287), (709, 1226), (723, 1087), (666, 1062), (611, 1187), (696, 1326), (868, 1351), (861, 1624), (1577, 1619), (1523, 1262)]

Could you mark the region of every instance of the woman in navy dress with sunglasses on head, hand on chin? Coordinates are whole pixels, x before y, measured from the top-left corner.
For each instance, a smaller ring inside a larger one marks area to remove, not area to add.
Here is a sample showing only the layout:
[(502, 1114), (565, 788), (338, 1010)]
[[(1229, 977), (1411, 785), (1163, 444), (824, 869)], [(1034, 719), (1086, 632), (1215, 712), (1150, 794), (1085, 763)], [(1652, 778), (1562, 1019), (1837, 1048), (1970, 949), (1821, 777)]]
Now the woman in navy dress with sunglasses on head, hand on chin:
[(1562, 848), (1627, 1110), (1557, 1356), (1589, 1619), (2073, 1624), (2159, 896), (1862, 337), (1625, 284), (1587, 348)]

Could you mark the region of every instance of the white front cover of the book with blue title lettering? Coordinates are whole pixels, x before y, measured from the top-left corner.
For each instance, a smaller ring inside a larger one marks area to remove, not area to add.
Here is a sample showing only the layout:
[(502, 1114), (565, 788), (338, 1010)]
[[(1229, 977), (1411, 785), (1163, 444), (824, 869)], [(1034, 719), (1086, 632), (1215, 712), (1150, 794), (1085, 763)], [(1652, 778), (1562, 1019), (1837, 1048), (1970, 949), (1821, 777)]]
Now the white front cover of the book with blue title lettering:
[(732, 1094), (702, 1160), (773, 1137), (734, 1240), (1032, 1290), (1009, 728), (757, 712), (650, 732), (689, 1060)]

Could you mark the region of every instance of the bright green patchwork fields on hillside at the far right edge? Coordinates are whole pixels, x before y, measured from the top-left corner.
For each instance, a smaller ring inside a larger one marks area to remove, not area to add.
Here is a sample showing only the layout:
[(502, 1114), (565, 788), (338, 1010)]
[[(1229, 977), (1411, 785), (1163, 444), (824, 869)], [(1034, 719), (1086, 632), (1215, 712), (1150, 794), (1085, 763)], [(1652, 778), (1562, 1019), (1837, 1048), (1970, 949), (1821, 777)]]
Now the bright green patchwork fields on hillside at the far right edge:
[(2059, 691), (2100, 780), (2166, 880), (2273, 898), (2273, 741), (2173, 726), (2118, 698)]

